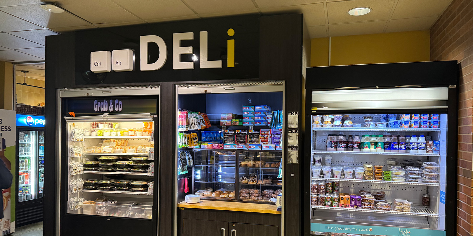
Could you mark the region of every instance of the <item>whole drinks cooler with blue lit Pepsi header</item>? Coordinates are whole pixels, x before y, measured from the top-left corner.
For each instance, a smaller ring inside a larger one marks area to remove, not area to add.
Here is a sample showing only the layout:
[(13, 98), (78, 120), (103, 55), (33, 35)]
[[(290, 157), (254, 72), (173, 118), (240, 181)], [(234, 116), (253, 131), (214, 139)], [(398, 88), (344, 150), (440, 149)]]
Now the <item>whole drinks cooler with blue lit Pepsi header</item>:
[(44, 117), (17, 114), (18, 227), (43, 220)]

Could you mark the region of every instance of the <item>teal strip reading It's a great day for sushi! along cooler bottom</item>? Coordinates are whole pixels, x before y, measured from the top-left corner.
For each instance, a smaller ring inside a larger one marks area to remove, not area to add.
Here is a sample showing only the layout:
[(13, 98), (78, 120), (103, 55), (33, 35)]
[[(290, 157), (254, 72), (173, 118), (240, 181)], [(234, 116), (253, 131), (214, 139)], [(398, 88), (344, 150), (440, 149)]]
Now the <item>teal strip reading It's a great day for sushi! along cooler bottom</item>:
[(423, 229), (423, 228), (398, 228), (385, 226), (362, 226), (362, 225), (335, 225), (311, 223), (310, 231), (345, 233), (354, 235), (383, 235), (383, 236), (445, 236), (445, 230)]

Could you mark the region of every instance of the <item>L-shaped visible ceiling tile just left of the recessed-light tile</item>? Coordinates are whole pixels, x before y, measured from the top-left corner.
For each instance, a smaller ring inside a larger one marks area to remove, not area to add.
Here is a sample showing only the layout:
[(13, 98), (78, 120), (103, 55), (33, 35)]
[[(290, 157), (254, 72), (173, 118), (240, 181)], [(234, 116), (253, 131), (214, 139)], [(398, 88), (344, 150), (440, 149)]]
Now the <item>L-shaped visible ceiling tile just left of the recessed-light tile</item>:
[(325, 25), (325, 11), (323, 3), (306, 4), (299, 6), (279, 7), (279, 8), (261, 8), (264, 14), (280, 13), (303, 13), (307, 27), (316, 25)]

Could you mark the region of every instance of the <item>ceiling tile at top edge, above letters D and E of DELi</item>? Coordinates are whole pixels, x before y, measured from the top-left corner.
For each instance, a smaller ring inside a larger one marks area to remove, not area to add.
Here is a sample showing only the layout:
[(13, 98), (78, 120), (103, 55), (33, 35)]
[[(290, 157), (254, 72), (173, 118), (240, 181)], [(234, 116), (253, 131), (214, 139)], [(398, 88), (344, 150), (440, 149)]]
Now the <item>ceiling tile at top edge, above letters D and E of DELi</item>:
[(143, 20), (185, 17), (195, 14), (181, 0), (114, 0), (114, 2)]

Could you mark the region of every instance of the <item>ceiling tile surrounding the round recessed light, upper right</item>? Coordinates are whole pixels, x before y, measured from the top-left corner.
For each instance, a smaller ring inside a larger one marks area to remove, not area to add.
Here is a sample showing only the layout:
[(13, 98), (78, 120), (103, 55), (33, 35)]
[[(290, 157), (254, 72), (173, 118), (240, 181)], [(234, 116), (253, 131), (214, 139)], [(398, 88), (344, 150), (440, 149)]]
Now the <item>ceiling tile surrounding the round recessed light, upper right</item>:
[[(350, 0), (327, 2), (329, 24), (360, 22), (369, 20), (387, 20), (394, 5), (394, 0)], [(352, 8), (368, 7), (371, 12), (363, 16), (348, 15)]]

